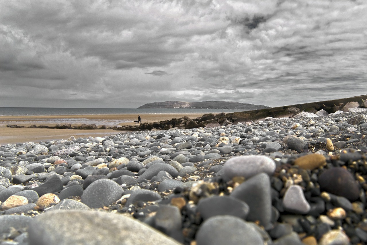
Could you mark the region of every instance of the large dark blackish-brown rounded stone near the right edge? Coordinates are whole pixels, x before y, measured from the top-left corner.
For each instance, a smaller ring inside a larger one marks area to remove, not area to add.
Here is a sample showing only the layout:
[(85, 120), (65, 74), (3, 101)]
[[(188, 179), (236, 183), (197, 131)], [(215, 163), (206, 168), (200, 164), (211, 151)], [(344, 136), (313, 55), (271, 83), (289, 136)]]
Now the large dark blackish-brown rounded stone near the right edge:
[(334, 167), (324, 171), (319, 176), (319, 184), (321, 190), (343, 196), (350, 201), (359, 198), (359, 185), (345, 168)]

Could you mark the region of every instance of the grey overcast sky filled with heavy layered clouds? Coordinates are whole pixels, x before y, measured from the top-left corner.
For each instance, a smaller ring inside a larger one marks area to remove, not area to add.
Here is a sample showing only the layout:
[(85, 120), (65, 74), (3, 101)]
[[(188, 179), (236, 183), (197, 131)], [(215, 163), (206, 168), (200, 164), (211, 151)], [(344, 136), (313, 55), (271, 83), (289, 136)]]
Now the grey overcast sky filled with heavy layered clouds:
[(366, 0), (0, 1), (0, 107), (367, 94)]

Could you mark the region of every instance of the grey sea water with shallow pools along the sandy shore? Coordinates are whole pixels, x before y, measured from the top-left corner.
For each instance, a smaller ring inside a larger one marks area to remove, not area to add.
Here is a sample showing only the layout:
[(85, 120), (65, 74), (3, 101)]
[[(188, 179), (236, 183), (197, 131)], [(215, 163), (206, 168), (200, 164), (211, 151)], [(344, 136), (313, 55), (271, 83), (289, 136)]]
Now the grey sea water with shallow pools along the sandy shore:
[[(190, 114), (190, 113), (230, 113), (235, 111), (245, 110), (228, 110), (228, 109), (193, 109), (193, 108), (51, 108), (51, 107), (0, 107), (0, 116), (58, 116), (58, 115), (122, 115), (122, 114)], [(18, 118), (19, 119), (19, 118)], [(86, 119), (86, 118), (68, 118), (63, 119), (62, 123), (70, 124), (95, 124), (115, 126), (124, 120), (98, 120), (98, 119)], [(131, 122), (127, 121), (126, 122)], [(1, 123), (1, 120), (0, 120)], [(7, 122), (8, 124), (17, 124), (17, 120), (14, 122)], [(28, 121), (30, 124), (35, 125), (52, 125), (60, 123), (60, 119), (37, 119), (34, 121)]]

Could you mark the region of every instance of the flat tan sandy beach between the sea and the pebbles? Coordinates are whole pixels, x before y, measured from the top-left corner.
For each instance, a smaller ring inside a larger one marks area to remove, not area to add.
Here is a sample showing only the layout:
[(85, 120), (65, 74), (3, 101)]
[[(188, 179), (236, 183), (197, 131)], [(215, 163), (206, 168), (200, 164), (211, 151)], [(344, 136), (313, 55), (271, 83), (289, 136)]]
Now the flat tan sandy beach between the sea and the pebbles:
[[(188, 116), (189, 118), (197, 118), (202, 114), (141, 114), (142, 123), (144, 122), (159, 122), (162, 120), (169, 120), (172, 118), (181, 118), (183, 116)], [(111, 134), (119, 133), (116, 130), (75, 130), (75, 129), (34, 129), (29, 128), (30, 125), (47, 125), (55, 126), (57, 123), (65, 124), (71, 119), (83, 119), (81, 121), (97, 120), (99, 123), (96, 124), (97, 127), (104, 124), (113, 124), (115, 126), (123, 125), (134, 125), (134, 120), (137, 120), (137, 115), (135, 114), (122, 114), (122, 115), (57, 115), (57, 116), (0, 116), (0, 145), (6, 145), (9, 143), (24, 143), (24, 142), (46, 142), (48, 140), (67, 140), (70, 136), (76, 138), (82, 137), (86, 138), (92, 137), (103, 137)], [(49, 123), (51, 121), (57, 121), (57, 123)], [(85, 120), (84, 120), (85, 119)], [(121, 120), (121, 122), (120, 122)], [(6, 127), (6, 125), (18, 125), (25, 126), (23, 128), (11, 128)], [(81, 123), (73, 124), (72, 126), (78, 126)]]

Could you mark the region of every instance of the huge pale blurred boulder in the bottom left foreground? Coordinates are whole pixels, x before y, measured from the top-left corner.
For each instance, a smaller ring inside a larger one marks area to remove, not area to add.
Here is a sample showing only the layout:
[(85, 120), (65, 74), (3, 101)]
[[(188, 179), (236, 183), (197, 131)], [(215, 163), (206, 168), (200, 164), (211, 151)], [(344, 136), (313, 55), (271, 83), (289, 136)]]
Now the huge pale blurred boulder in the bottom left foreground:
[[(72, 229), (66, 224), (73, 224)], [(28, 233), (30, 245), (179, 245), (177, 241), (136, 219), (86, 210), (46, 212), (33, 219)]]

